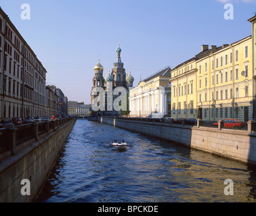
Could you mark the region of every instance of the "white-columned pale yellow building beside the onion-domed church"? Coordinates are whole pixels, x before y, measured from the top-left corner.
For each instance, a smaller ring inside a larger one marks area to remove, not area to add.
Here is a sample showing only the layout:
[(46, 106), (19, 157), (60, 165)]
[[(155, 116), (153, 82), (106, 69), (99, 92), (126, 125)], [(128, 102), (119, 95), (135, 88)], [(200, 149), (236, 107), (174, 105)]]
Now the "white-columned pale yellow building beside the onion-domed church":
[(141, 81), (129, 90), (131, 117), (163, 117), (171, 114), (170, 68)]

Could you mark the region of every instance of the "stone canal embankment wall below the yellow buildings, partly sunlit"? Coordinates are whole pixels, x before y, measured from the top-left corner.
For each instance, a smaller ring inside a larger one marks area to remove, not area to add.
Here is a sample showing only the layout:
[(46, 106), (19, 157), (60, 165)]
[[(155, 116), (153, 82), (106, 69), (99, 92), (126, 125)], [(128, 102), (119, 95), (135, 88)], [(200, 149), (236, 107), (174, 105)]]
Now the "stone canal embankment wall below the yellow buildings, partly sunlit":
[(256, 133), (242, 130), (207, 128), (203, 126), (182, 126), (142, 119), (127, 120), (99, 117), (98, 121), (183, 144), (200, 151), (256, 165)]

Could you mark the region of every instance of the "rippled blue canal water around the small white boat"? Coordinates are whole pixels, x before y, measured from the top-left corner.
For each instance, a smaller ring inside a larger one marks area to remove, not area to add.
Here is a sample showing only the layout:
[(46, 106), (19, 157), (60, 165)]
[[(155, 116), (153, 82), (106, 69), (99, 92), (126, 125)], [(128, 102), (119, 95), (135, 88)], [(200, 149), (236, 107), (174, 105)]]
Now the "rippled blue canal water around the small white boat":
[(36, 201), (255, 202), (255, 180), (244, 163), (78, 119)]

